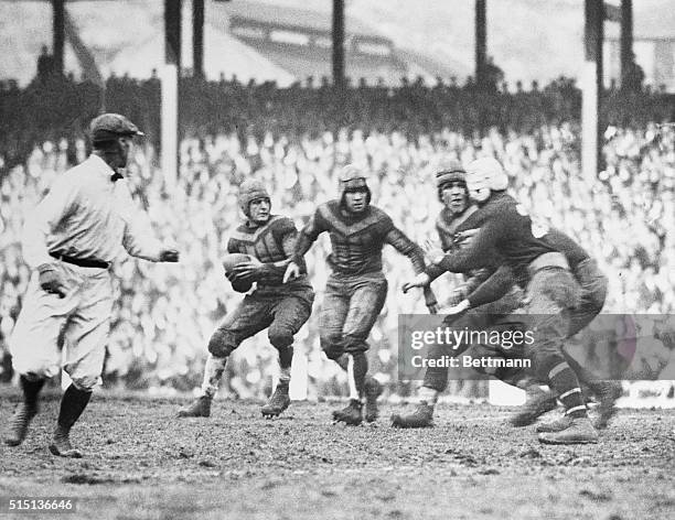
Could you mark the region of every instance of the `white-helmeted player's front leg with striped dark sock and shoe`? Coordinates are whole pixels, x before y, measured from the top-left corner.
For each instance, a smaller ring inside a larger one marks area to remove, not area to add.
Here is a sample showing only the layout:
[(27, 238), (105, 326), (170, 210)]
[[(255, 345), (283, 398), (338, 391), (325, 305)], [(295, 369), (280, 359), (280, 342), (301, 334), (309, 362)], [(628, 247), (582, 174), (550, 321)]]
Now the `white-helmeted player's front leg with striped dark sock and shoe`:
[(527, 312), (534, 333), (531, 349), (535, 376), (548, 382), (570, 419), (570, 425), (557, 433), (540, 434), (548, 444), (581, 444), (597, 442), (598, 433), (588, 420), (579, 380), (562, 356), (562, 345), (569, 332), (567, 308), (579, 303), (579, 288), (568, 271), (542, 270), (534, 274), (528, 288)]

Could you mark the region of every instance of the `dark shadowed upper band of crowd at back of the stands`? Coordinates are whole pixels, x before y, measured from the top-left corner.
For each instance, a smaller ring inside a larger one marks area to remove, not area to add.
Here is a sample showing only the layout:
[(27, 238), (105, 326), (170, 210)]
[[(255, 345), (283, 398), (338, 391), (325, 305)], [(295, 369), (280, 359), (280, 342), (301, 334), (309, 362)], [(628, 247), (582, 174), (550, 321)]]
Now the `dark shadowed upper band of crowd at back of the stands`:
[[(222, 76), (218, 82), (183, 77), (180, 89), (183, 137), (197, 138), (223, 132), (258, 141), (267, 132), (319, 138), (324, 131), (346, 128), (396, 131), (416, 139), (443, 129), (471, 136), (493, 126), (532, 133), (544, 124), (578, 122), (581, 117), (581, 90), (566, 77), (545, 86), (537, 82), (524, 86), (507, 85), (496, 75), (481, 87), (471, 78), (463, 85), (454, 79), (426, 85), (421, 78), (404, 78), (397, 87), (360, 80), (346, 91), (334, 89), (326, 78), (310, 77), (279, 88), (274, 82), (243, 84), (236, 77)], [(651, 87), (612, 86), (603, 95), (602, 117), (608, 124), (644, 128), (650, 121), (673, 119), (674, 97)], [(0, 158), (6, 164), (22, 163), (44, 140), (83, 137), (101, 107), (136, 121), (157, 147), (160, 104), (157, 74), (142, 80), (111, 76), (105, 86), (78, 83), (72, 76), (39, 76), (26, 88), (0, 82)]]

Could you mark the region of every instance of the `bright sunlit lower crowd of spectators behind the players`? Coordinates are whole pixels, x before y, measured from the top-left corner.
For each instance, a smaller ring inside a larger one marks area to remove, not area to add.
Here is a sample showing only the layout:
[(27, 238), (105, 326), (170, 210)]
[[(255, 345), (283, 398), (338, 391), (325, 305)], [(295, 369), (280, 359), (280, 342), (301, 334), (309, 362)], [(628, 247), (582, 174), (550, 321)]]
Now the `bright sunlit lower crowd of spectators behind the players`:
[[(319, 97), (320, 91), (314, 95)], [(272, 96), (268, 108), (251, 118), (254, 124), (267, 118), (266, 132), (260, 131), (262, 126), (229, 132), (227, 127), (219, 132), (203, 128), (202, 138), (185, 138), (174, 186), (164, 183), (151, 140), (137, 149), (128, 174), (132, 191), (139, 205), (148, 208), (158, 234), (181, 250), (181, 262), (126, 260), (116, 266), (120, 283), (106, 362), (109, 383), (179, 390), (197, 387), (206, 342), (240, 297), (226, 283), (219, 264), (227, 237), (242, 218), (236, 203), (238, 184), (249, 176), (262, 180), (272, 193), (272, 210), (291, 216), (301, 226), (315, 205), (334, 196), (334, 174), (347, 162), (367, 167), (373, 203), (420, 242), (433, 236), (440, 209), (433, 184), (439, 162), (448, 158), (468, 162), (476, 154), (494, 154), (505, 165), (514, 195), (533, 214), (578, 238), (599, 260), (611, 283), (604, 312), (675, 311), (673, 128), (650, 123), (640, 130), (612, 129), (604, 147), (607, 169), (586, 178), (579, 170), (580, 131), (575, 122), (539, 121), (532, 131), (518, 132), (494, 127), (483, 138), (450, 128), (413, 136), (415, 127), (397, 130), (392, 121), (384, 130), (374, 126), (360, 129), (360, 120), (341, 129), (323, 126), (311, 120), (311, 109), (298, 116), (304, 127), (286, 128), (281, 126), (288, 124), (281, 122), (283, 113), (277, 112), (282, 105)], [(132, 119), (135, 113), (140, 126), (149, 122), (131, 110)], [(396, 116), (396, 110), (392, 113), (393, 121), (406, 117)], [(244, 119), (249, 115), (246, 109), (240, 111)], [(442, 121), (435, 124), (441, 127)], [(312, 131), (300, 132), (300, 128)], [(7, 155), (0, 159), (0, 353), (7, 353), (7, 338), (29, 279), (21, 259), (22, 224), (54, 176), (85, 156), (82, 139), (54, 139), (33, 145), (18, 164), (8, 162)], [(328, 252), (323, 237), (308, 254), (317, 304), (328, 275)], [(394, 388), (397, 316), (425, 313), (426, 307), (419, 294), (401, 294), (400, 286), (413, 269), (390, 249), (385, 252), (385, 273), (389, 293), (371, 336), (371, 362), (373, 373)], [(453, 285), (451, 275), (447, 277), (450, 283), (437, 282), (435, 288), (441, 302)], [(342, 377), (321, 355), (317, 326), (312, 316), (297, 337), (310, 397), (338, 392), (334, 386)], [(239, 397), (267, 392), (270, 371), (277, 367), (271, 362), (275, 356), (264, 335), (245, 344), (228, 365), (225, 391)]]

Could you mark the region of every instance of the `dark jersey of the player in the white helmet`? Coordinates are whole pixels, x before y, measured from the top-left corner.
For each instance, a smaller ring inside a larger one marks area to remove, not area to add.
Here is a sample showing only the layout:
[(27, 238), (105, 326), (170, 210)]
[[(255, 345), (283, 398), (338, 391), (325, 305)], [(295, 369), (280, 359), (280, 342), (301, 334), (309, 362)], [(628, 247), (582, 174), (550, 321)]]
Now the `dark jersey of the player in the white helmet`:
[(460, 228), (479, 229), (467, 248), (447, 254), (439, 266), (446, 271), (490, 268), (505, 263), (518, 283), (527, 282), (527, 266), (536, 258), (557, 249), (544, 240), (548, 228), (533, 223), (524, 206), (505, 193), (494, 193)]

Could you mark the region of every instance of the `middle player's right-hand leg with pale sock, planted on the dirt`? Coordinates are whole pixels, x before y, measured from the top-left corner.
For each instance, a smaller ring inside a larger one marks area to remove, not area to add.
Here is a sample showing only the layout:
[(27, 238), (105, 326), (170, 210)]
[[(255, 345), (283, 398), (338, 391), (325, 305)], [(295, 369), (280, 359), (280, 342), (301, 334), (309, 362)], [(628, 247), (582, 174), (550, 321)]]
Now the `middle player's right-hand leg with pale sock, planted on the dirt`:
[(382, 384), (372, 377), (367, 377), (367, 337), (386, 301), (387, 281), (382, 275), (362, 277), (352, 286), (350, 307), (342, 337), (344, 351), (349, 356), (347, 380), (350, 382), (350, 407), (345, 409), (343, 420), (349, 424), (361, 422), (361, 408), (365, 400), (365, 420), (373, 422), (379, 411), (377, 398), (382, 394)]

